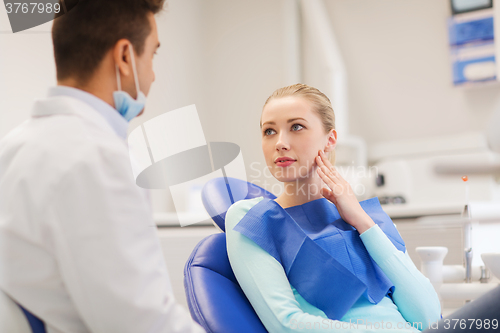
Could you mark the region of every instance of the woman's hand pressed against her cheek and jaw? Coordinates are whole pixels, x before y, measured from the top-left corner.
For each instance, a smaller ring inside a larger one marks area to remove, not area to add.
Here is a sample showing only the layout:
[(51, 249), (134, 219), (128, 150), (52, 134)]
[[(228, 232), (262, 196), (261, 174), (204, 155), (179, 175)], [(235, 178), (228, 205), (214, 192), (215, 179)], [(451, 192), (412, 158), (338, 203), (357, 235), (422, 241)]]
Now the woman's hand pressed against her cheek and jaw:
[(328, 186), (321, 189), (321, 194), (335, 204), (342, 219), (356, 228), (360, 234), (374, 226), (371, 217), (361, 208), (351, 185), (342, 178), (322, 150), (316, 156), (316, 163), (318, 175)]

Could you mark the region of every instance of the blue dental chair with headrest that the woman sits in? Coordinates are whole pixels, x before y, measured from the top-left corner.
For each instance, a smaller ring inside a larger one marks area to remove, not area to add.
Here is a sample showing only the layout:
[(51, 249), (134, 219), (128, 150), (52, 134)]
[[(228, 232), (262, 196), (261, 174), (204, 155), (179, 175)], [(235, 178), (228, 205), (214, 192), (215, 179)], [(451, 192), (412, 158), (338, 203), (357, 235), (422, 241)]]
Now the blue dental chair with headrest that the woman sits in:
[(257, 185), (229, 177), (212, 179), (201, 195), (205, 209), (222, 233), (201, 240), (184, 268), (191, 316), (209, 333), (265, 333), (229, 264), (225, 217), (236, 201), (276, 196)]

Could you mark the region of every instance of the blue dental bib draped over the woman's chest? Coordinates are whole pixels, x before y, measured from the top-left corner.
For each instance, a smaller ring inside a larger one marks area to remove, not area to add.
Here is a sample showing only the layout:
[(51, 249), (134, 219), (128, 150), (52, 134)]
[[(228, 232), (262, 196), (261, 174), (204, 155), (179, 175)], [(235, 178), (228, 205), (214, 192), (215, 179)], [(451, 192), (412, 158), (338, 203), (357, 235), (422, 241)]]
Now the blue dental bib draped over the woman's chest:
[[(394, 246), (405, 252), (404, 241), (378, 198), (360, 205)], [(358, 231), (326, 198), (286, 209), (264, 198), (234, 230), (278, 260), (290, 284), (330, 319), (341, 319), (362, 295), (376, 304), (394, 289)]]

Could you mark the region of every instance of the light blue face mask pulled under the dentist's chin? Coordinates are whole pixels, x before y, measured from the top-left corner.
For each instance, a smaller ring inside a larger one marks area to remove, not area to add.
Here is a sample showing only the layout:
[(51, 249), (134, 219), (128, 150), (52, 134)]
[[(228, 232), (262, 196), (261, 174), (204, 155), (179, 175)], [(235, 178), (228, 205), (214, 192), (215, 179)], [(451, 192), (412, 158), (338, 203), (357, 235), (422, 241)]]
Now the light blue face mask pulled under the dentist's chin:
[(137, 76), (137, 69), (135, 68), (135, 59), (134, 59), (134, 48), (130, 45), (130, 58), (132, 60), (132, 71), (134, 73), (134, 81), (135, 81), (135, 89), (137, 91), (137, 99), (133, 99), (127, 92), (122, 91), (122, 85), (120, 80), (120, 70), (118, 69), (118, 65), (115, 65), (116, 68), (116, 81), (118, 82), (118, 91), (113, 92), (113, 99), (115, 101), (116, 110), (125, 118), (127, 121), (131, 121), (141, 111), (144, 109), (144, 105), (146, 104), (146, 96), (139, 89), (139, 80)]

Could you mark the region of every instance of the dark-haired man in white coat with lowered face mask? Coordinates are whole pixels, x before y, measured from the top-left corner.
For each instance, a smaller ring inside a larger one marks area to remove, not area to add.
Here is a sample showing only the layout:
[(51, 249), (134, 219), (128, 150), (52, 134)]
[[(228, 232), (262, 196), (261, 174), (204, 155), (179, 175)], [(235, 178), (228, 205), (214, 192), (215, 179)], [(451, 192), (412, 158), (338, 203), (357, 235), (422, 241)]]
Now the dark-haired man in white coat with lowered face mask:
[(163, 3), (72, 3), (52, 28), (57, 87), (0, 142), (0, 289), (49, 333), (203, 332), (173, 297), (125, 140)]

